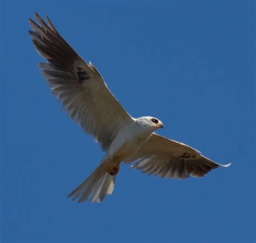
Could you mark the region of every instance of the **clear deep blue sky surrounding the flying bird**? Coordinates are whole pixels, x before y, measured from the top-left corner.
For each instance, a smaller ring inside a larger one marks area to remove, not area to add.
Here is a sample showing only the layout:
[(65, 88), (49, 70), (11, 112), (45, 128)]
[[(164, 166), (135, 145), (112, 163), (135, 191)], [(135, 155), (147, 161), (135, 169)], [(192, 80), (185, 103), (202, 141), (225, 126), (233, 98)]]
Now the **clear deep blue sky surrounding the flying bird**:
[[(1, 2), (1, 242), (254, 242), (253, 1)], [(57, 30), (133, 116), (230, 168), (122, 166), (103, 203), (66, 198), (103, 156), (41, 77), (28, 17)], [(34, 18), (35, 19), (35, 18)]]

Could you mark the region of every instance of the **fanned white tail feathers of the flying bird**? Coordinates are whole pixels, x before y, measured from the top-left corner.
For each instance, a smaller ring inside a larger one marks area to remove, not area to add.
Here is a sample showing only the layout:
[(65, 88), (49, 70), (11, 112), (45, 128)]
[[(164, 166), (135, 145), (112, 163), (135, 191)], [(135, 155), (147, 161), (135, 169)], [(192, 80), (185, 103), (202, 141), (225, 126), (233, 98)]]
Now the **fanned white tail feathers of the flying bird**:
[(79, 198), (78, 203), (83, 203), (92, 193), (90, 203), (95, 200), (98, 203), (102, 202), (106, 194), (112, 194), (114, 182), (116, 180), (116, 175), (111, 176), (106, 172), (107, 169), (108, 163), (101, 163), (82, 184), (70, 193), (68, 197), (73, 196), (72, 200)]

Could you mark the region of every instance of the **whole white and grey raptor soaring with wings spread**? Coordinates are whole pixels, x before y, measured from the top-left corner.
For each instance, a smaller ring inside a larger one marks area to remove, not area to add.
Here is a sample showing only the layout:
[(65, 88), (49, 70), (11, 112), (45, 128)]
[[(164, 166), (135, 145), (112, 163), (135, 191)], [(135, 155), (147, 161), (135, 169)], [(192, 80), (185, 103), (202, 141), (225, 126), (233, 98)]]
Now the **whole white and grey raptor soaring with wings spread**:
[(210, 170), (228, 167), (206, 158), (198, 150), (155, 133), (164, 124), (156, 117), (133, 118), (120, 105), (96, 67), (60, 36), (46, 15), (29, 18), (29, 34), (36, 51), (46, 60), (38, 63), (51, 93), (62, 109), (95, 138), (105, 152), (97, 168), (68, 197), (102, 202), (114, 189), (120, 164), (165, 178), (203, 177)]

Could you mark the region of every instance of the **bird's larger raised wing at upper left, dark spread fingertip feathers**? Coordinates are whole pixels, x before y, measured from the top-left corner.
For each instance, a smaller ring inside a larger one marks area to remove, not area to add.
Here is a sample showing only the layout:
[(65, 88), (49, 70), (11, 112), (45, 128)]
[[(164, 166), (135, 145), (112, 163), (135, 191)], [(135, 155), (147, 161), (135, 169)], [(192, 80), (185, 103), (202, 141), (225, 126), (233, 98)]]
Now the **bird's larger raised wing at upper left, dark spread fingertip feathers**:
[(37, 25), (29, 19), (29, 31), (37, 52), (47, 60), (39, 63), (42, 75), (62, 108), (82, 129), (107, 150), (119, 129), (131, 121), (107, 88), (95, 66), (89, 65), (60, 36), (46, 16), (46, 24), (35, 13)]

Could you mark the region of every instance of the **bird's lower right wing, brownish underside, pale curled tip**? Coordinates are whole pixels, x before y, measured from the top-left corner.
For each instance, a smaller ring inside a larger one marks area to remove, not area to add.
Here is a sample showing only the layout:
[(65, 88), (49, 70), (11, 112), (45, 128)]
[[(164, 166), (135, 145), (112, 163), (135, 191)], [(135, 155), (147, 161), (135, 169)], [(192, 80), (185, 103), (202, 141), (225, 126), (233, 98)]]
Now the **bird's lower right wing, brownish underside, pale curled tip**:
[(204, 157), (199, 151), (183, 143), (152, 134), (136, 154), (125, 163), (139, 161), (131, 166), (143, 173), (166, 178), (185, 179), (188, 176), (203, 177), (221, 165)]

